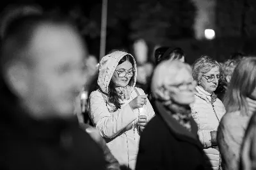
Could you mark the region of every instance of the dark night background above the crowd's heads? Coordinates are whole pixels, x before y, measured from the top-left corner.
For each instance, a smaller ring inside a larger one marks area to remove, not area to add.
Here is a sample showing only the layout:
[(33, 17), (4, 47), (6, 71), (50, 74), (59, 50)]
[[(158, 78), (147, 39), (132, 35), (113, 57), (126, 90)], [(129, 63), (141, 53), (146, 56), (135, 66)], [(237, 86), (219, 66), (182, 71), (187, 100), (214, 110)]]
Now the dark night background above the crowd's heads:
[[(143, 38), (148, 45), (148, 60), (156, 45), (179, 46), (188, 63), (202, 54), (223, 61), (232, 52), (256, 54), (255, 0), (201, 0), (214, 2), (214, 17), (209, 28), (214, 40), (195, 38), (195, 1), (200, 0), (109, 0), (106, 52), (112, 49), (132, 51), (132, 43)], [(60, 10), (76, 19), (90, 54), (99, 58), (101, 0), (93, 1), (1, 1), (8, 4), (39, 4), (44, 10)], [(210, 21), (209, 21), (210, 22)]]

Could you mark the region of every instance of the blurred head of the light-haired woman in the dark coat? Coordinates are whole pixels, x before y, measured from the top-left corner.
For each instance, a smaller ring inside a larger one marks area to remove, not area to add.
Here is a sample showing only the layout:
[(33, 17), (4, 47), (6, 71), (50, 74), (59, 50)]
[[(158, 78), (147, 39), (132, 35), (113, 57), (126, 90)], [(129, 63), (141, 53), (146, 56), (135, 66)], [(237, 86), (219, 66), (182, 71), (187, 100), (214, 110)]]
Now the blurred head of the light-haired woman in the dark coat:
[(157, 100), (172, 101), (189, 105), (195, 100), (196, 82), (191, 75), (191, 67), (176, 61), (163, 61), (153, 73), (151, 89)]

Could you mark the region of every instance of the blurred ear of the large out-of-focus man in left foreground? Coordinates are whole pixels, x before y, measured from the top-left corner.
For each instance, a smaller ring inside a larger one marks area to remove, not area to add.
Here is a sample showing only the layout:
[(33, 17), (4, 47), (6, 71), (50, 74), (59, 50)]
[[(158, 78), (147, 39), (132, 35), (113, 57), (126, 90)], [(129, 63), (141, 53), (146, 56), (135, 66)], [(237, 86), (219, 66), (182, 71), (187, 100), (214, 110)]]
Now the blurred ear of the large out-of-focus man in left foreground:
[(24, 63), (15, 63), (6, 68), (6, 81), (15, 95), (23, 97), (28, 93), (28, 73)]

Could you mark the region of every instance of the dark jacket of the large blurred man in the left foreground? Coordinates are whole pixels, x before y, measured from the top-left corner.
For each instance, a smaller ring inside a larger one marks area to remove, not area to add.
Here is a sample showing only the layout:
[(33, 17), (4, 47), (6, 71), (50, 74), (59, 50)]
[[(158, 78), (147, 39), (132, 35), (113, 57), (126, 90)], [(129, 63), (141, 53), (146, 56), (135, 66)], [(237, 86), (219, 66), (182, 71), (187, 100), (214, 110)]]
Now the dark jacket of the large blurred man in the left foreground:
[(0, 169), (105, 169), (102, 149), (74, 120), (36, 121), (6, 88), (0, 102)]

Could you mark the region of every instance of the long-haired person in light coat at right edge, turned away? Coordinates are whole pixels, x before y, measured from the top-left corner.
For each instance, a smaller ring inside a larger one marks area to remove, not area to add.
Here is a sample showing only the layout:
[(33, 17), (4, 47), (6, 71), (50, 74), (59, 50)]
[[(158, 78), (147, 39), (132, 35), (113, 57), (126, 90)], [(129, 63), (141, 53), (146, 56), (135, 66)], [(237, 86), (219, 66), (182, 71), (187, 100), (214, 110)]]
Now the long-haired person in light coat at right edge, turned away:
[(223, 165), (228, 170), (239, 169), (244, 132), (256, 111), (255, 77), (256, 58), (243, 59), (234, 70), (223, 100), (227, 113), (221, 119), (217, 137)]

